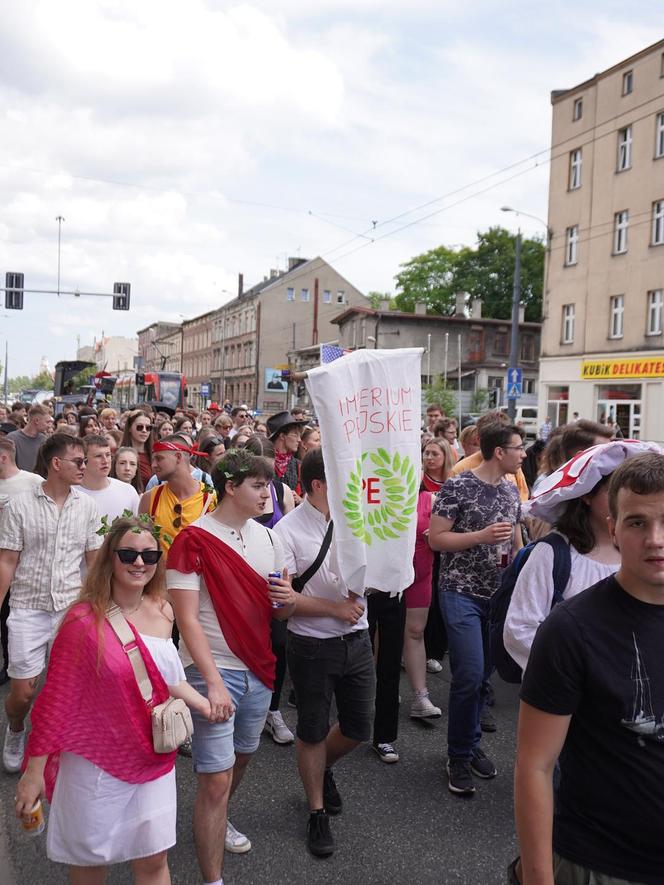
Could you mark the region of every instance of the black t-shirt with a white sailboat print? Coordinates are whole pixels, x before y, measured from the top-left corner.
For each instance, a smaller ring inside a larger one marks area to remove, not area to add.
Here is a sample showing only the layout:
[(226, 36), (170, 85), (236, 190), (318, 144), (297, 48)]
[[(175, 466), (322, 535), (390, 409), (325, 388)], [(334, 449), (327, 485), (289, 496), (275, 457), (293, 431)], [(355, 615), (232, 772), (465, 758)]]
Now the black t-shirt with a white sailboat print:
[(610, 876), (664, 883), (664, 605), (615, 577), (557, 605), (535, 637), (521, 699), (572, 715), (553, 846)]

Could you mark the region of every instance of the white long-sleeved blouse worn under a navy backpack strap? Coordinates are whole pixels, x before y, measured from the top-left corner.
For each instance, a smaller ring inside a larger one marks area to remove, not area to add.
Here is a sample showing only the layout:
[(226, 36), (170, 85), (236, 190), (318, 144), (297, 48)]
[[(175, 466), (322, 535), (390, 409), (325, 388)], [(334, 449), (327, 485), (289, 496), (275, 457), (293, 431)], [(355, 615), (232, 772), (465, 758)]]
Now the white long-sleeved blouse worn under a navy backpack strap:
[[(571, 599), (582, 590), (615, 574), (619, 563), (606, 564), (578, 553), (570, 545), (572, 570), (564, 599)], [(521, 669), (526, 669), (535, 633), (551, 611), (553, 603), (553, 547), (538, 544), (516, 579), (510, 607), (503, 628), (503, 642), (510, 656)]]

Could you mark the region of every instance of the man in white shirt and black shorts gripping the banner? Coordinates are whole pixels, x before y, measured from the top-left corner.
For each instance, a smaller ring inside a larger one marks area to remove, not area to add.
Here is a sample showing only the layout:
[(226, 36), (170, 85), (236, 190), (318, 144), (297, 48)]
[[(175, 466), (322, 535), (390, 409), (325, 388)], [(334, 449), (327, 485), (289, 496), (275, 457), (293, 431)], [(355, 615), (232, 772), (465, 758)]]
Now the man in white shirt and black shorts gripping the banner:
[[(287, 656), (297, 696), (297, 764), (310, 812), (307, 846), (329, 857), (328, 815), (342, 809), (332, 766), (371, 737), (376, 676), (364, 599), (339, 577), (321, 449), (307, 452), (300, 478), (306, 498), (274, 530), (289, 574), (300, 579)], [(330, 728), (333, 695), (339, 721)]]

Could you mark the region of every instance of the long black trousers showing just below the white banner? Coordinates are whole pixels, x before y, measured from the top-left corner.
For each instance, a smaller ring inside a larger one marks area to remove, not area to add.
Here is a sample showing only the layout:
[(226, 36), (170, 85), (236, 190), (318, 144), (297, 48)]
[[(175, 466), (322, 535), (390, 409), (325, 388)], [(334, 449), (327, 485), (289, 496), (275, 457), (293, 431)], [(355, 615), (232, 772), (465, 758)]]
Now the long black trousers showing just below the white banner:
[(389, 593), (371, 593), (367, 597), (367, 617), (374, 648), (378, 633), (373, 740), (375, 744), (391, 744), (399, 732), (399, 679), (406, 622), (403, 594), (399, 599)]

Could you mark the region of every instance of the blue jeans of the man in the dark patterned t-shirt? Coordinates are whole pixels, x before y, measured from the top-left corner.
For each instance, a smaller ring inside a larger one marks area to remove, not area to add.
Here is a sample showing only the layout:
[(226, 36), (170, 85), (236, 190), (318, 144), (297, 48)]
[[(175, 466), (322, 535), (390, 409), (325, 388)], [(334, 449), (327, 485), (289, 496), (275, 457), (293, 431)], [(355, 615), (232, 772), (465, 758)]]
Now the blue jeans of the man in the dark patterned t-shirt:
[(447, 752), (451, 759), (470, 760), (482, 737), (480, 714), (491, 675), (489, 600), (441, 591), (439, 601), (452, 672)]

